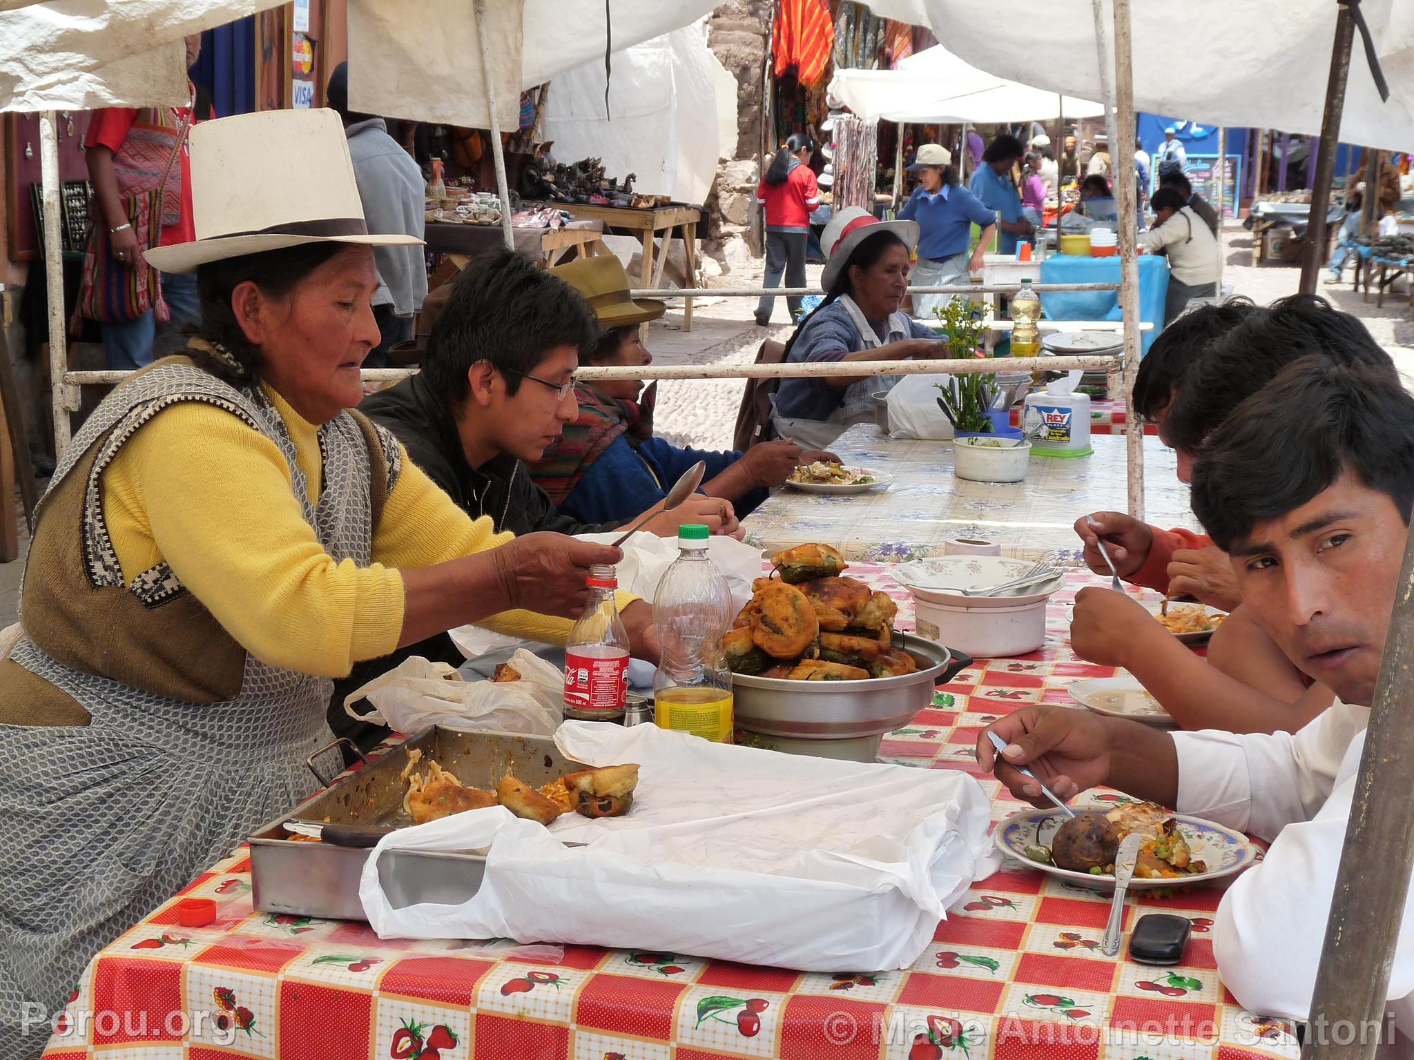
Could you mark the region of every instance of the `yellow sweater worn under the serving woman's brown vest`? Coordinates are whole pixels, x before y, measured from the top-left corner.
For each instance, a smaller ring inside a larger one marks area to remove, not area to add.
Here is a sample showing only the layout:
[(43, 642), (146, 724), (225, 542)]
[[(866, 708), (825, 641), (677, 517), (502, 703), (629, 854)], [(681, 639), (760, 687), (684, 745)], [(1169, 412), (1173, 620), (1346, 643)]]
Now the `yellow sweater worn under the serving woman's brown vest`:
[[(266, 387), (294, 442), (310, 503), (320, 499), (318, 428)], [(403, 578), (512, 540), (472, 520), (403, 454), (373, 537), (373, 563), (335, 563), (304, 520), (280, 449), (202, 401), (153, 417), (102, 475), (103, 517), (132, 581), (165, 560), (242, 647), (301, 673), (342, 677), (397, 647)], [(564, 643), (566, 619), (512, 611), (482, 625)]]

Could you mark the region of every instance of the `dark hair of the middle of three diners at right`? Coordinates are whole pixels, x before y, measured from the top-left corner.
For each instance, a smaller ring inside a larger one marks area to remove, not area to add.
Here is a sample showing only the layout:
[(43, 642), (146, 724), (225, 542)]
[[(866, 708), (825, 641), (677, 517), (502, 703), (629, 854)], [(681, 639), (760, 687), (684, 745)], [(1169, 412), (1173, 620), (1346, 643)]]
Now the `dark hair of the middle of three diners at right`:
[[(1155, 341), (1157, 343), (1157, 341)], [(1363, 366), (1398, 387), (1390, 355), (1359, 319), (1314, 294), (1278, 298), (1264, 312), (1213, 338), (1164, 414), (1159, 434), (1175, 449), (1198, 452), (1241, 401), (1287, 365), (1318, 355), (1335, 365)]]

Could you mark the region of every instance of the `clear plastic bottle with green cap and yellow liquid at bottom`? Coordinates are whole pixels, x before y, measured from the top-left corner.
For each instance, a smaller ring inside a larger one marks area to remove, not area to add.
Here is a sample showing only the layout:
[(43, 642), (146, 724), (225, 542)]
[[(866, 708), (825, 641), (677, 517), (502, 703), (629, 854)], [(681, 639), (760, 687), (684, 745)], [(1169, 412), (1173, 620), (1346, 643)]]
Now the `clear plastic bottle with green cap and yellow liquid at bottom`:
[(731, 622), (731, 591), (707, 558), (707, 527), (677, 530), (677, 558), (663, 571), (653, 626), (663, 649), (653, 676), (655, 721), (665, 729), (730, 743), (731, 671), (721, 639)]

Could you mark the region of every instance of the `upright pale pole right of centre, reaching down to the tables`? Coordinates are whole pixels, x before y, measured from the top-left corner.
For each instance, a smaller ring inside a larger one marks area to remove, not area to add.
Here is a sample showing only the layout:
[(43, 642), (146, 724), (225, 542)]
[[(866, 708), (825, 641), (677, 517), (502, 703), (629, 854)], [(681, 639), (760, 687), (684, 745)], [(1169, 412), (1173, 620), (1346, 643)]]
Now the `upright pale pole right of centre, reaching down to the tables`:
[[(1096, 10), (1102, 0), (1094, 0)], [(1103, 69), (1103, 64), (1102, 64)], [(1134, 55), (1130, 41), (1130, 0), (1114, 0), (1114, 129), (1118, 143), (1134, 143)], [(1104, 100), (1106, 110), (1110, 99)], [(1111, 154), (1113, 160), (1114, 155)], [(1120, 192), (1120, 312), (1124, 317), (1124, 407), (1134, 407), (1134, 379), (1140, 370), (1140, 260), (1134, 164), (1116, 165)], [(1128, 468), (1130, 514), (1144, 519), (1144, 425), (1127, 424), (1124, 454)]]

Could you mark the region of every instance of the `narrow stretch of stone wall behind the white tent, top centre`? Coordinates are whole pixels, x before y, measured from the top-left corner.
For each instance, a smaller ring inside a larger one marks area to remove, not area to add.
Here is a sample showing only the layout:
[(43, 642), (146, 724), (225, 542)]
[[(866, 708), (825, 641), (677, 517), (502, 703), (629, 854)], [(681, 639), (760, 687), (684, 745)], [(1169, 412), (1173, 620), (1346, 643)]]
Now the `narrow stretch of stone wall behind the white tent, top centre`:
[[(727, 0), (707, 23), (707, 47), (737, 79), (737, 150), (723, 158), (717, 179), (703, 206), (707, 230), (703, 233), (704, 257), (714, 259), (703, 269), (711, 285), (735, 284), (742, 271), (756, 267), (761, 256), (759, 225), (754, 229), (755, 191), (761, 151), (761, 122), (765, 109), (762, 73), (771, 52), (771, 10), (775, 0)], [(735, 277), (730, 277), (735, 273)]]

